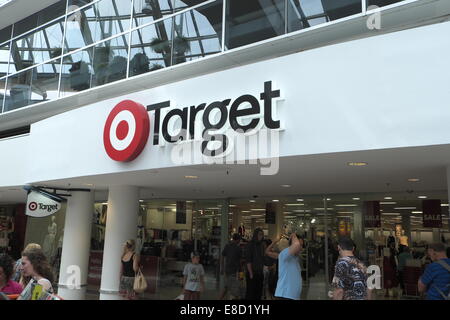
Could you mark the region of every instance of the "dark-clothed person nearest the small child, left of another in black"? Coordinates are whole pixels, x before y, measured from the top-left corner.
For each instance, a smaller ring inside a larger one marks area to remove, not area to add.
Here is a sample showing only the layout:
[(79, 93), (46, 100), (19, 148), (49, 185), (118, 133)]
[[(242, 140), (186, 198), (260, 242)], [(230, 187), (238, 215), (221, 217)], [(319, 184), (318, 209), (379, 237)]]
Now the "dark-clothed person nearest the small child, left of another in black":
[(220, 300), (225, 299), (227, 293), (233, 297), (239, 296), (239, 271), (241, 265), (241, 248), (239, 243), (241, 236), (233, 234), (233, 240), (228, 243), (222, 251), (220, 257), (220, 273), (224, 275), (224, 289), (220, 295)]

